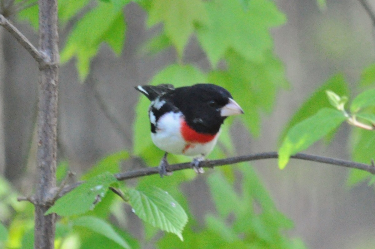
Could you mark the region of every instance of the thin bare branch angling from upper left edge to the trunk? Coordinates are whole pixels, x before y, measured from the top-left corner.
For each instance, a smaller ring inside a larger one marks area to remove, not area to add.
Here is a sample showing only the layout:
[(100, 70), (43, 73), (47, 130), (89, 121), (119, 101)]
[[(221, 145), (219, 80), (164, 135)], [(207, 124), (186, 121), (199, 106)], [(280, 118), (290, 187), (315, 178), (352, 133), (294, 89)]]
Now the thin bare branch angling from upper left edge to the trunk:
[(39, 63), (45, 63), (45, 58), (42, 53), (35, 48), (35, 46), (19, 31), (13, 24), (11, 24), (3, 15), (0, 14), (0, 25), (3, 26), (9, 33), (14, 36), (17, 41), (31, 54), (31, 56)]

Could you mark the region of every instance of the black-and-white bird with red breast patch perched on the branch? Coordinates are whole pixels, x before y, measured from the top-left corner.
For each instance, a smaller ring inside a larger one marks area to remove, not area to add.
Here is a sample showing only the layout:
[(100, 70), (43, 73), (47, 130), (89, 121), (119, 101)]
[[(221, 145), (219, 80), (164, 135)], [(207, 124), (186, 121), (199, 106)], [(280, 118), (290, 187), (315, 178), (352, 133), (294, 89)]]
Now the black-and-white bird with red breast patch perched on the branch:
[(220, 126), (227, 116), (243, 110), (224, 88), (213, 84), (196, 84), (174, 88), (173, 85), (136, 86), (151, 100), (148, 117), (151, 139), (165, 151), (160, 162), (160, 176), (166, 174), (168, 153), (195, 157), (194, 170), (217, 142)]

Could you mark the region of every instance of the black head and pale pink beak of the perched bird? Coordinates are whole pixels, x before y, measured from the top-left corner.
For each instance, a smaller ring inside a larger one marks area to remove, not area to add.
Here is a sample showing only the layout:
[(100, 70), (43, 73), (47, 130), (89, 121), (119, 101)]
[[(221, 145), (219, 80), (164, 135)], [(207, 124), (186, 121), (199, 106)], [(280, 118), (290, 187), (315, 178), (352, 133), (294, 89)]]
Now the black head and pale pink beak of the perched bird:
[[(202, 133), (216, 134), (226, 116), (243, 113), (226, 89), (213, 84), (176, 88), (163, 98), (171, 100), (184, 114), (187, 124)], [(235, 112), (223, 112), (232, 106)]]

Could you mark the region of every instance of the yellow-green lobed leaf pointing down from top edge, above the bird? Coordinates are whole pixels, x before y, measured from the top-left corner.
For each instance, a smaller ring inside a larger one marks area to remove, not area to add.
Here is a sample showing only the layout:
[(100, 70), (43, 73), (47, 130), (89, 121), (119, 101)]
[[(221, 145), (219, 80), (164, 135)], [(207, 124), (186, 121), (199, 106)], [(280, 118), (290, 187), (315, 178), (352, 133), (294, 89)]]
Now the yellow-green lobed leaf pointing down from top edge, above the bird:
[(207, 13), (201, 0), (154, 0), (147, 25), (163, 22), (164, 32), (180, 57), (196, 24), (205, 23)]

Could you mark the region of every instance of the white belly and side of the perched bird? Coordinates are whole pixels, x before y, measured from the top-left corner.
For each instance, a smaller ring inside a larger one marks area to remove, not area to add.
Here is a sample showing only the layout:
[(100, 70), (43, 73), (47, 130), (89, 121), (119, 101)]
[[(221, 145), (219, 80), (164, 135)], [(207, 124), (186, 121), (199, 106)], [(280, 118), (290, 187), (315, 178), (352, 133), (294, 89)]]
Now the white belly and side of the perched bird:
[(210, 153), (217, 142), (219, 133), (211, 142), (187, 143), (180, 133), (181, 113), (166, 113), (158, 120), (156, 133), (151, 133), (154, 144), (163, 151), (177, 155), (198, 156)]

